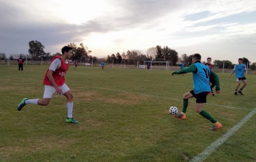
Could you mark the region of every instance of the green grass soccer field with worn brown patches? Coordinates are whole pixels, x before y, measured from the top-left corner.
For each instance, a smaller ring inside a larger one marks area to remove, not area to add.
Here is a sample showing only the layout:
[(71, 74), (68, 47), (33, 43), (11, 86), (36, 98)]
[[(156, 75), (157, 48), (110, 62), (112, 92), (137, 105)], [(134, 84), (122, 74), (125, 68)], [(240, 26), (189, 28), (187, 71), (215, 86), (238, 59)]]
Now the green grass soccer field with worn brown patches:
[[(42, 98), (48, 66), (0, 65), (0, 161), (189, 161), (222, 137), (256, 107), (256, 75), (246, 76), (244, 96), (233, 94), (235, 76), (218, 73), (221, 93), (208, 96), (204, 110), (222, 123), (195, 112), (189, 99), (187, 119), (168, 113), (182, 110), (182, 95), (192, 90), (192, 74), (71, 66), (66, 84), (74, 95), (73, 117), (65, 122), (66, 98), (54, 95), (48, 106), (17, 105), (26, 97)], [(256, 161), (256, 115), (204, 161)]]

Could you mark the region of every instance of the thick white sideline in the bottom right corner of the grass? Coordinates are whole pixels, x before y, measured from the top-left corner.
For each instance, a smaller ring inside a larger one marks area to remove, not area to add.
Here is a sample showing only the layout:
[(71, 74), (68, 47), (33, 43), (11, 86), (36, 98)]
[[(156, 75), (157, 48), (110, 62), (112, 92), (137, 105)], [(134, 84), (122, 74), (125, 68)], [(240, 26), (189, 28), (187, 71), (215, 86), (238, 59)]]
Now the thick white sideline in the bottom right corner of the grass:
[(203, 152), (197, 154), (190, 162), (201, 162), (206, 159), (216, 148), (222, 145), (230, 136), (232, 136), (237, 130), (239, 130), (244, 123), (246, 123), (254, 114), (256, 113), (256, 108), (254, 108), (246, 117), (244, 117), (239, 123), (237, 123), (234, 127), (228, 130), (222, 137), (218, 138), (216, 141), (211, 143)]

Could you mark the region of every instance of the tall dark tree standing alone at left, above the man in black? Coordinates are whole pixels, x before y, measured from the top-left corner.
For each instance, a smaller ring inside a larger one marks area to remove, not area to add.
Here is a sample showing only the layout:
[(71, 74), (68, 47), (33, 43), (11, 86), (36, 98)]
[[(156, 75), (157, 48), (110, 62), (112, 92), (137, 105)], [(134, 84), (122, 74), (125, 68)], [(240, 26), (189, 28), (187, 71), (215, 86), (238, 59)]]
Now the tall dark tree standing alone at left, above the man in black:
[(28, 45), (29, 45), (28, 53), (31, 55), (32, 59), (38, 60), (43, 55), (45, 55), (45, 52), (43, 51), (45, 46), (43, 46), (41, 42), (37, 40), (35, 41), (31, 40), (28, 43)]

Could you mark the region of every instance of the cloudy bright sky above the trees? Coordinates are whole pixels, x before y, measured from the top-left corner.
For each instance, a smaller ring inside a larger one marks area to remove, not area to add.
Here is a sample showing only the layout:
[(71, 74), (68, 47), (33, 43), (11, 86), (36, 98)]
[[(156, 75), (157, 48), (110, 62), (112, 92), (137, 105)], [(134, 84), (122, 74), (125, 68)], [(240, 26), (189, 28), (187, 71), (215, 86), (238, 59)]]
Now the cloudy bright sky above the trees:
[(0, 0), (0, 52), (55, 54), (83, 43), (90, 55), (168, 46), (202, 61), (256, 62), (256, 0)]

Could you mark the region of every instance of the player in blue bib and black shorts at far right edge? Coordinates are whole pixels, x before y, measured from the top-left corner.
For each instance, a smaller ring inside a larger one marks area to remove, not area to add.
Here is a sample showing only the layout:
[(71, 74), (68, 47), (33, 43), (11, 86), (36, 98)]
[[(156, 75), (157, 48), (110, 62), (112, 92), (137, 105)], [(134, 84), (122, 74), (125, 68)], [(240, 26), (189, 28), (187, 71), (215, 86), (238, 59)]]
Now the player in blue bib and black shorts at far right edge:
[(237, 89), (239, 88), (241, 81), (244, 83), (242, 85), (242, 87), (240, 88), (240, 90), (238, 91), (238, 93), (240, 93), (241, 95), (244, 95), (242, 93), (242, 90), (244, 89), (244, 87), (247, 85), (247, 80), (245, 78), (245, 74), (246, 74), (246, 64), (242, 63), (242, 59), (239, 58), (238, 59), (238, 64), (235, 65), (233, 71), (230, 73), (229, 77), (232, 76), (232, 74), (235, 72), (235, 78), (237, 78), (237, 85), (235, 86), (235, 92), (234, 94), (237, 95)]

